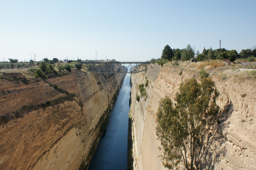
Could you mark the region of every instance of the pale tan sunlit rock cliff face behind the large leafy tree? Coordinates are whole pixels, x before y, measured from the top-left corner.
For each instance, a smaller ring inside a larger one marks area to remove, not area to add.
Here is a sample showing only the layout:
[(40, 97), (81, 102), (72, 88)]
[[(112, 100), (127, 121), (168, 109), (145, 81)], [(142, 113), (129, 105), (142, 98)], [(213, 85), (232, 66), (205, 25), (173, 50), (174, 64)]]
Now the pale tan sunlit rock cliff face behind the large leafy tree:
[[(160, 141), (156, 136), (159, 101), (166, 95), (174, 98), (179, 84), (192, 77), (200, 81), (198, 73), (172, 66), (150, 65), (147, 72), (131, 76), (131, 116), (133, 133), (133, 156), (135, 170), (165, 169), (159, 157)], [(236, 78), (219, 79), (211, 75), (220, 97), (221, 120), (214, 132), (214, 151), (205, 153), (204, 169), (255, 169), (256, 166), (256, 88), (255, 80), (239, 81)], [(148, 98), (136, 101), (140, 95), (139, 84), (149, 84), (146, 88)], [(246, 97), (242, 97), (246, 94)]]

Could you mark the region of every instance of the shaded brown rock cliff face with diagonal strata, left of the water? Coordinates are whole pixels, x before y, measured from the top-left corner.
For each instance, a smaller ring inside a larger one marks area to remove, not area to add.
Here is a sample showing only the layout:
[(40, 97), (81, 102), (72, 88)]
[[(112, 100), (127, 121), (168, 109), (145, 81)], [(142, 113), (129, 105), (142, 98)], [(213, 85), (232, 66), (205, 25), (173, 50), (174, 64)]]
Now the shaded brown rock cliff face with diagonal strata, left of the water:
[(87, 167), (124, 75), (72, 69), (27, 84), (15, 76), (0, 78), (0, 169)]

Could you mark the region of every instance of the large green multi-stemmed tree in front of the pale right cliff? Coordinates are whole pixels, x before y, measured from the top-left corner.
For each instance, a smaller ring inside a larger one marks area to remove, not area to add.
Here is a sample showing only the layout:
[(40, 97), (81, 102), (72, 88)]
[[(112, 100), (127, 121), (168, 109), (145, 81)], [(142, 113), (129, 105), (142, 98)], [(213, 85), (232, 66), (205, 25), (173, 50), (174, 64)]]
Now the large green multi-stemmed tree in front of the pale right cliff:
[(182, 82), (175, 104), (168, 97), (161, 99), (157, 135), (165, 167), (178, 169), (182, 164), (187, 170), (201, 169), (201, 157), (210, 146), (210, 129), (219, 110), (218, 96), (211, 77), (203, 77), (201, 84), (194, 78)]

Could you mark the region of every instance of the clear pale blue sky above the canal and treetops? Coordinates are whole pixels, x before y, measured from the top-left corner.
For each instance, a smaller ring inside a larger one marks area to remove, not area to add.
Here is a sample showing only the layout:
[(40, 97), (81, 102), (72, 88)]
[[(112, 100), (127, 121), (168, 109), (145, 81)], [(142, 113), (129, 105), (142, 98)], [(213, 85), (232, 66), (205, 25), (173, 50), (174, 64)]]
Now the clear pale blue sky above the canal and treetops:
[[(165, 45), (256, 45), (255, 0), (0, 1), (0, 61), (160, 58)], [(106, 57), (107, 56), (107, 57)]]

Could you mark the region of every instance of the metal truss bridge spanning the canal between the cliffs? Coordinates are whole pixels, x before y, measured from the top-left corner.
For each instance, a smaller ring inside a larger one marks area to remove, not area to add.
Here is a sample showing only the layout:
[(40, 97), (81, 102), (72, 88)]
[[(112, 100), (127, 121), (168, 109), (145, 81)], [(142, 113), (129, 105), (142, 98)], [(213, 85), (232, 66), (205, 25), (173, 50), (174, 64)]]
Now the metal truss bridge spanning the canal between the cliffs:
[(96, 73), (139, 73), (146, 70), (146, 64), (151, 62), (144, 61), (110, 61), (110, 62), (82, 62), (88, 71)]

